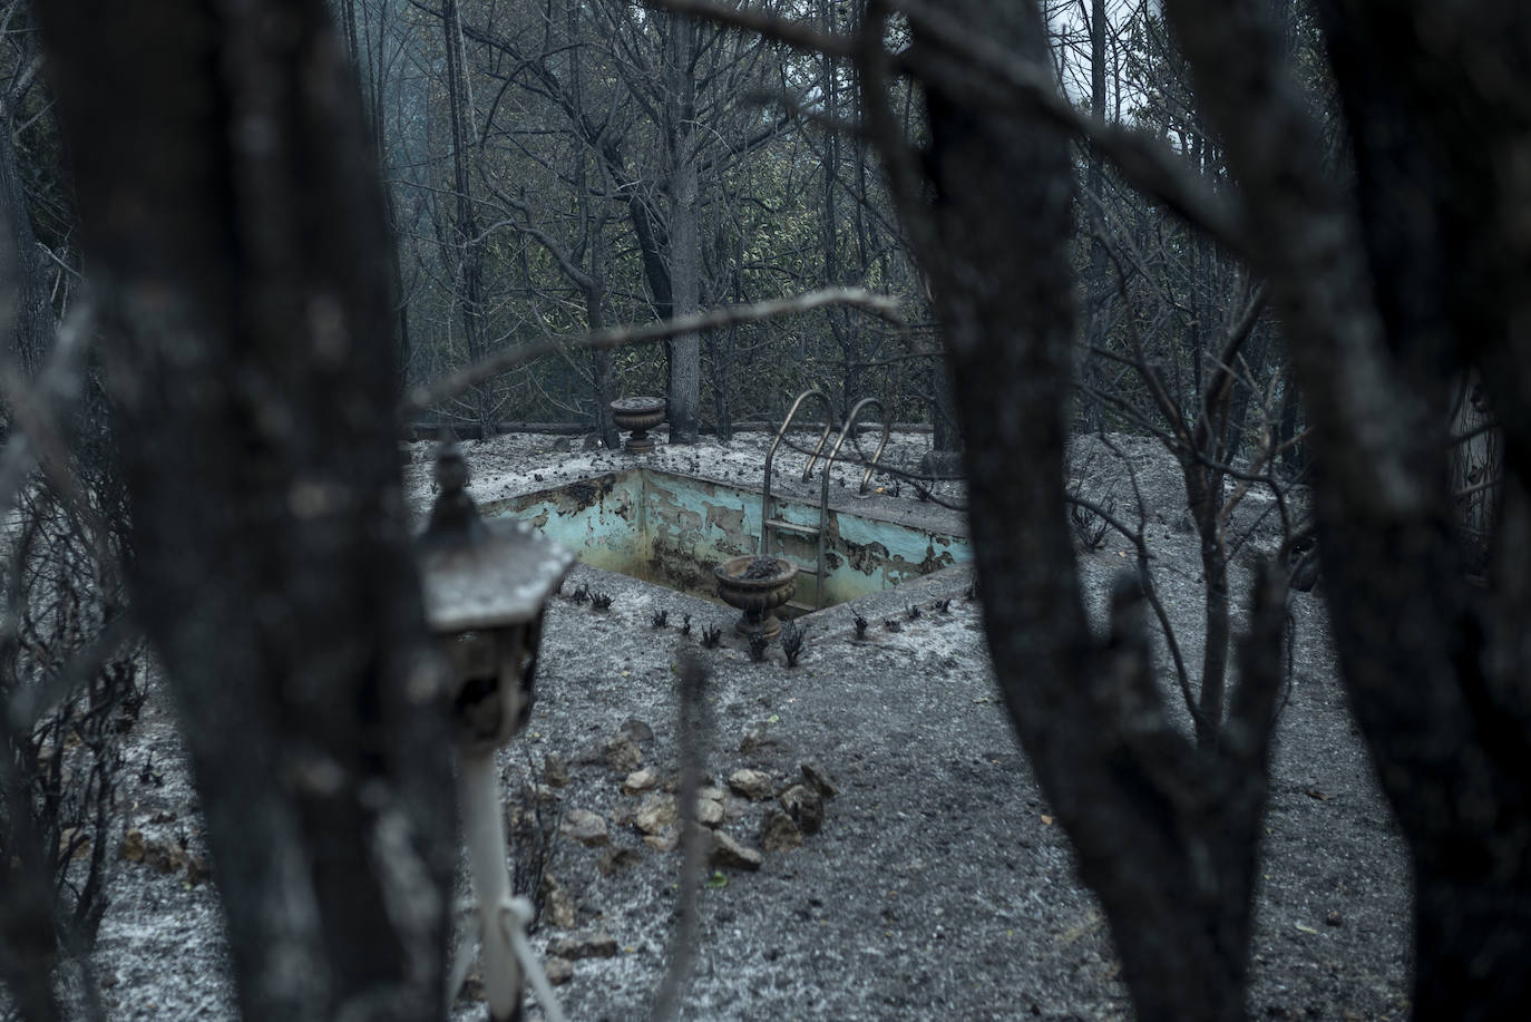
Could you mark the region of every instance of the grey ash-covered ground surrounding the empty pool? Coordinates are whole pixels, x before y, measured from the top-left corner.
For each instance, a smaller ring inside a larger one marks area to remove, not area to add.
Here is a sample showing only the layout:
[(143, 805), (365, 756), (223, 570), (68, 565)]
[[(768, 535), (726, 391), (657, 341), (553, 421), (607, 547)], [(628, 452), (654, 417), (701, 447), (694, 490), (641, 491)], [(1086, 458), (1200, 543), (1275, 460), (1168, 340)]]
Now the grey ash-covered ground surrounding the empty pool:
[[(649, 458), (758, 486), (767, 440), (661, 443)], [(897, 435), (888, 457), (912, 469), (928, 444), (920, 434)], [(1139, 478), (1157, 585), (1196, 663), (1200, 567), (1194, 536), (1180, 527), (1177, 467), (1153, 440), (1119, 444)], [(430, 449), (412, 447), (406, 466), (416, 509), (430, 496)], [(585, 452), (577, 438), (545, 435), (468, 443), (465, 452), (481, 501), (632, 464), (622, 452)], [(782, 464), (801, 464), (801, 455), (787, 452)], [(847, 489), (859, 483), (854, 472), (837, 469)], [(1116, 454), (1081, 441), (1073, 473), (1087, 496), (1136, 521)], [(893, 480), (879, 483), (885, 492), (870, 500), (911, 501), (908, 483), (899, 496)], [(960, 486), (945, 484), (937, 496), (960, 503)], [(1237, 519), (1258, 535), (1232, 568), (1234, 593), (1248, 591), (1246, 555), (1274, 536), (1258, 500)], [(1128, 564), (1130, 547), (1113, 538), (1079, 553), (1093, 613)], [(759, 864), (707, 869), (684, 1017), (1131, 1016), (1099, 907), (1075, 880), (1069, 844), (1006, 723), (969, 584), (957, 567), (821, 611), (807, 619), (801, 659), (787, 668), (779, 644), (752, 660), (727, 607), (576, 567), (548, 611), (531, 723), (501, 755), (507, 791), (536, 785), (544, 814), (562, 821), (547, 860), (554, 893), (533, 939), (566, 962), (557, 994), (570, 1019), (646, 1017), (668, 962), (681, 858), (666, 850), (664, 785), (680, 765), (675, 671), (687, 653), (707, 670), (704, 760), (718, 829), (758, 852)], [(611, 607), (574, 602), (580, 585), (609, 595)], [(666, 624), (655, 627), (661, 610)], [(862, 639), (857, 614), (870, 622)], [(1295, 595), (1292, 622), (1295, 674), (1272, 763), (1249, 1013), (1402, 1017), (1404, 850), (1343, 702), (1321, 598)], [(720, 647), (701, 647), (707, 627), (723, 630)], [(121, 843), (132, 827), (150, 849), (185, 838), (197, 855), (196, 795), (165, 706), (156, 693), (132, 734), (124, 818), (110, 840)], [(142, 771), (150, 752), (153, 769)], [(804, 765), (831, 797), (805, 781)], [(801, 821), (813, 812), (799, 804), (784, 827), (778, 798), (730, 788), (738, 771), (766, 775), (755, 783), (770, 795), (805, 781), (822, 824), (805, 832)], [(521, 812), (536, 797), (508, 798), (507, 809)], [(184, 864), (162, 873), (153, 855), (113, 863), (112, 904), (90, 959), (109, 1017), (234, 1016), (211, 866), (213, 880), (193, 884)], [(473, 991), (470, 982), (455, 1017), (482, 1017)], [(540, 1017), (530, 1001), (528, 1017)]]

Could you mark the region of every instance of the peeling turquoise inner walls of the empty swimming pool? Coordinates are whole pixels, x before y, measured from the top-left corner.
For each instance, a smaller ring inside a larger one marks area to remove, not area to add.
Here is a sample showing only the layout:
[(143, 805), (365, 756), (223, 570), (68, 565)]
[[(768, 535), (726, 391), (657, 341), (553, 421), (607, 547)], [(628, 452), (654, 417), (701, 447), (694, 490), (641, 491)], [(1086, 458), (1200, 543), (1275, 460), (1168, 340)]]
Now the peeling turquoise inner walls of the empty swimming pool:
[[(871, 509), (868, 509), (871, 510)], [(585, 564), (715, 599), (712, 568), (756, 553), (761, 495), (697, 477), (628, 469), (485, 504), (485, 516), (514, 516), (557, 539)], [(819, 506), (776, 498), (776, 515), (819, 524)], [(818, 541), (775, 533), (772, 550), (811, 567)], [(966, 536), (828, 509), (824, 601), (830, 607), (972, 559)], [(798, 576), (795, 602), (813, 607), (818, 579)]]

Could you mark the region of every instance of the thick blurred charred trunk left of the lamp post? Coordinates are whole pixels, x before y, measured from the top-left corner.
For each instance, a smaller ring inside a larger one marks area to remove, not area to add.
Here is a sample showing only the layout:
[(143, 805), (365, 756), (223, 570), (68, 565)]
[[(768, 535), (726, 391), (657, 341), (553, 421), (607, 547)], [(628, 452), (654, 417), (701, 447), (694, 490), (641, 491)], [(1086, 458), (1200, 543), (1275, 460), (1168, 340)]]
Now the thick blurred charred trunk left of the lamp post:
[(107, 306), (135, 617), (181, 711), (242, 1013), (433, 1017), (450, 748), (341, 43), (320, 0), (37, 14)]

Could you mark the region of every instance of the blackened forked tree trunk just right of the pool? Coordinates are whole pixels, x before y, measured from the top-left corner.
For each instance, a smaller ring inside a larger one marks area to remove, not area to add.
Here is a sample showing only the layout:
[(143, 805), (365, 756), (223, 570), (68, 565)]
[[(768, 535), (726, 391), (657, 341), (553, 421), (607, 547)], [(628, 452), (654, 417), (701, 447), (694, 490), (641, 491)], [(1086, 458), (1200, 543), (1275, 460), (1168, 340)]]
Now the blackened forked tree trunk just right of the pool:
[[(1030, 5), (942, 9), (1046, 63)], [(911, 153), (886, 107), (883, 17), (873, 3), (865, 116), (931, 279), (957, 409), (992, 440), (966, 450), (969, 521), (1010, 723), (1101, 896), (1138, 1017), (1243, 1017), (1280, 587), (1266, 578), (1257, 593), (1258, 639), (1211, 748), (1164, 714), (1136, 581), (1118, 591), (1110, 639), (1092, 636), (1061, 484), (1073, 374), (1067, 141), (1024, 104), (974, 101), (984, 83), (971, 63), (916, 20), (903, 60), (922, 78), (931, 146)]]

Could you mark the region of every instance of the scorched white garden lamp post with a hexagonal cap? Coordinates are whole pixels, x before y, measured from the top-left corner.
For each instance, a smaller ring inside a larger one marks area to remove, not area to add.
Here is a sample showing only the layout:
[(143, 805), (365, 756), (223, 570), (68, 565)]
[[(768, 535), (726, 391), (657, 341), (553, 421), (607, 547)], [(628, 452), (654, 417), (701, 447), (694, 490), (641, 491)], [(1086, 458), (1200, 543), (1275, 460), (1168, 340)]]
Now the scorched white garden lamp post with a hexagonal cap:
[(467, 481), (462, 452), (444, 444), (436, 454), (441, 493), (418, 553), (426, 621), (455, 673), (458, 795), (479, 904), (484, 991), (495, 1022), (521, 1017), (519, 955), (533, 964), (527, 971), (548, 1017), (559, 1017), (527, 944), (530, 906), (511, 898), (495, 751), (527, 723), (542, 614), (574, 555), (525, 522), (479, 518)]

